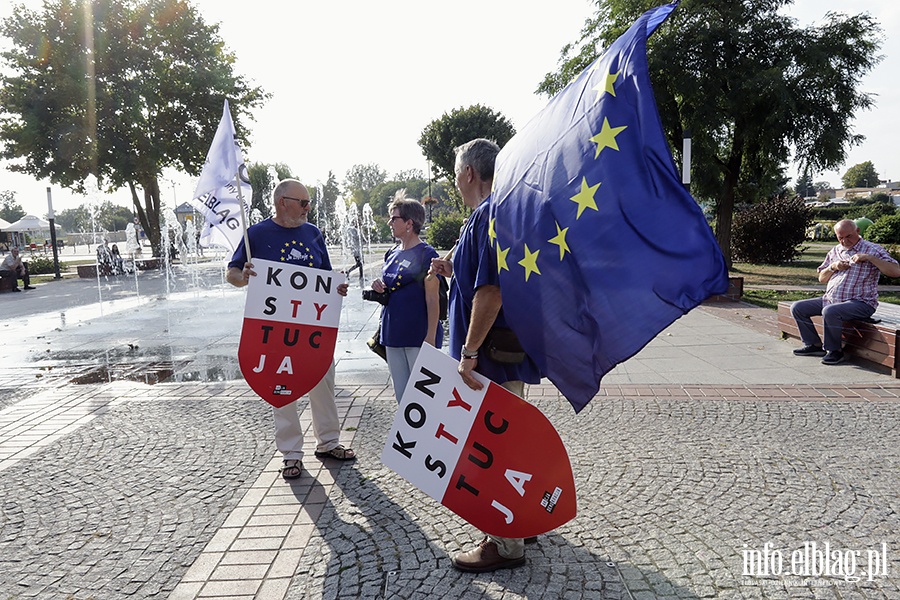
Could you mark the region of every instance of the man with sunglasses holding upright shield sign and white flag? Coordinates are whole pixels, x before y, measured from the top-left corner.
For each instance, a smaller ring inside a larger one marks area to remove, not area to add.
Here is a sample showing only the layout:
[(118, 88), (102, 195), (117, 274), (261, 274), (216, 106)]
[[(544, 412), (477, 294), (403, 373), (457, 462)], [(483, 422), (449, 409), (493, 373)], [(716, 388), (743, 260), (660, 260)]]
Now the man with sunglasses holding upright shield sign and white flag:
[[(247, 230), (251, 256), (264, 260), (287, 262), (314, 269), (331, 270), (331, 259), (325, 247), (325, 238), (319, 229), (307, 222), (310, 211), (309, 191), (296, 179), (285, 179), (272, 192), (275, 216)], [(242, 241), (231, 262), (228, 263), (228, 282), (244, 287), (256, 273), (253, 263), (247, 262), (247, 252)], [(337, 287), (340, 295), (347, 295), (347, 284)], [(316, 456), (337, 460), (354, 460), (356, 454), (344, 448), (340, 442), (340, 422), (334, 401), (334, 364), (316, 387), (309, 392), (313, 433), (316, 436)], [(275, 445), (284, 457), (281, 475), (296, 479), (301, 475), (300, 460), (303, 456), (303, 429), (297, 412), (297, 403), (275, 408)]]

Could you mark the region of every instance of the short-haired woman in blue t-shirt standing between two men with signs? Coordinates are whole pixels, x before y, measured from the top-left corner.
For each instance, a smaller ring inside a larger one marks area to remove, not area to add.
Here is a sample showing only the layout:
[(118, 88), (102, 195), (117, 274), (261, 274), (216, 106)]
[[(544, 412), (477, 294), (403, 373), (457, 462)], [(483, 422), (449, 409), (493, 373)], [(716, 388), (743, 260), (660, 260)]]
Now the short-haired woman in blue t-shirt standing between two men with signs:
[(419, 233), (425, 224), (425, 208), (407, 199), (401, 190), (388, 205), (391, 234), (398, 244), (385, 255), (381, 278), (372, 282), (376, 292), (388, 291), (381, 310), (381, 343), (387, 349), (388, 369), (397, 401), (403, 395), (422, 343), (441, 347), (444, 330), (440, 323), (437, 276), (426, 278), (434, 248)]

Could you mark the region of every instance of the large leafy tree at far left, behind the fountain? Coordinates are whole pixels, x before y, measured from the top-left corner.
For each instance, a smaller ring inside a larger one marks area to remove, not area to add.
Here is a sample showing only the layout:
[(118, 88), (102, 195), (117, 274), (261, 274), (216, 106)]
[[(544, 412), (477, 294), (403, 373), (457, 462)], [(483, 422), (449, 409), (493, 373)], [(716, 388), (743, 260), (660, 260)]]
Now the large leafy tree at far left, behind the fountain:
[[(127, 187), (160, 253), (162, 170), (199, 175), (231, 103), (239, 136), (266, 98), (234, 73), (218, 26), (185, 0), (54, 0), (0, 24), (0, 157), (78, 192)], [(21, 161), (21, 162), (18, 162)]]

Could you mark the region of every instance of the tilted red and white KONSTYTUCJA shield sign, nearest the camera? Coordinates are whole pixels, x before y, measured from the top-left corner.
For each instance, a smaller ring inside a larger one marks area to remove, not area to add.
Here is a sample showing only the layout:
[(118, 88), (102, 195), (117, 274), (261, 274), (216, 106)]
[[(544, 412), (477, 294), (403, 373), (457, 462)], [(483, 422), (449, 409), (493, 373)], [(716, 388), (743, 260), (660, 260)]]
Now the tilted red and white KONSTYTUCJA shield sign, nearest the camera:
[(546, 533), (575, 517), (575, 480), (547, 417), (425, 344), (381, 455), (385, 465), (482, 531)]

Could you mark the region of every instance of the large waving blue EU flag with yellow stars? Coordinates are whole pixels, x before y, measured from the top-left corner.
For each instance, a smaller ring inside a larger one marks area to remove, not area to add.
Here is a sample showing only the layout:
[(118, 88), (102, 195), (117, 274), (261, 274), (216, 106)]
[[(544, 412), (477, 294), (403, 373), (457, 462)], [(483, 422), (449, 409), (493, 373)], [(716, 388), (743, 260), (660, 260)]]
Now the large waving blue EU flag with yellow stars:
[(676, 5), (644, 13), (497, 157), (503, 311), (576, 412), (613, 367), (728, 289), (650, 86), (647, 36)]

